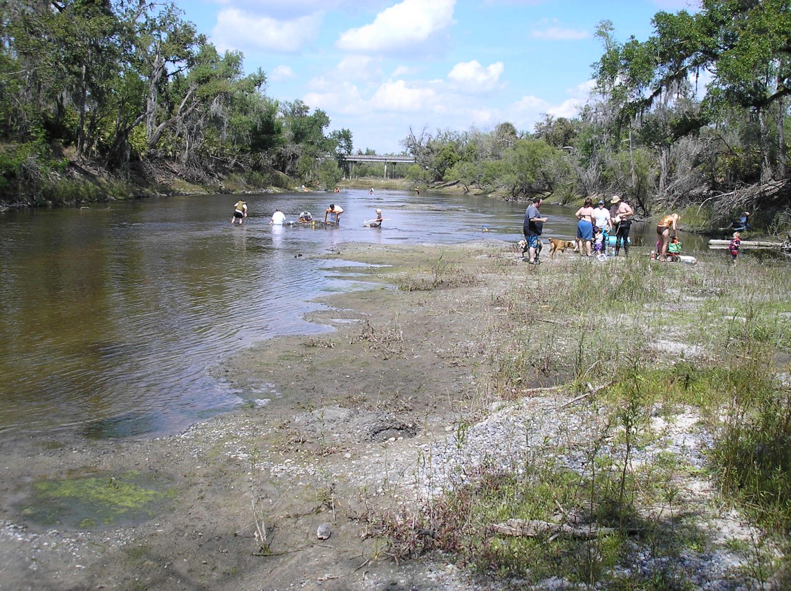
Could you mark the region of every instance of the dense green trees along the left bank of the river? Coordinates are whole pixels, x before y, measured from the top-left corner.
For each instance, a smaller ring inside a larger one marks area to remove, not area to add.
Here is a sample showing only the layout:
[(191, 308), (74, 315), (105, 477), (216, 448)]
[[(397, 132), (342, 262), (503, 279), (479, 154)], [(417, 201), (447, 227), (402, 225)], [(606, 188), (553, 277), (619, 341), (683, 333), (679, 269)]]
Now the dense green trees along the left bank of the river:
[(0, 16), (3, 193), (69, 160), (121, 175), (176, 167), (198, 183), (343, 173), (350, 130), (327, 133), (324, 111), (267, 96), (262, 70), (245, 75), (239, 52), (218, 52), (172, 4), (0, 0)]

